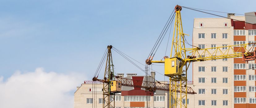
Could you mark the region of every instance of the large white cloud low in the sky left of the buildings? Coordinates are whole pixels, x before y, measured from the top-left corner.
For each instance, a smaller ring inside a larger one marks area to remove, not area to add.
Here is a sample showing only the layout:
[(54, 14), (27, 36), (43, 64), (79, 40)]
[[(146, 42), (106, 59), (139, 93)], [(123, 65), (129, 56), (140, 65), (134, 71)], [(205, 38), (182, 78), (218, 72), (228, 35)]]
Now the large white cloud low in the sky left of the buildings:
[(80, 73), (15, 72), (0, 77), (0, 108), (73, 108), (74, 91), (85, 80)]

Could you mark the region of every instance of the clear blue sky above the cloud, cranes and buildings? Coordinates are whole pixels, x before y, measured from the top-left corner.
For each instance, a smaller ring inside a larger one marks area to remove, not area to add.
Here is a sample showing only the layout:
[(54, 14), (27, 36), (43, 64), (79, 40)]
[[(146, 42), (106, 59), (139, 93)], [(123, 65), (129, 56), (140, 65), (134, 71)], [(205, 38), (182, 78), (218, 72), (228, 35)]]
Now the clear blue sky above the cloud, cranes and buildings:
[[(90, 80), (107, 45), (144, 63), (177, 4), (243, 14), (255, 11), (255, 7), (248, 6), (255, 3), (255, 0), (1, 1), (0, 76), (5, 81), (17, 70), (26, 73), (43, 67), (46, 72), (83, 73), (84, 80)], [(215, 17), (188, 9), (183, 9), (181, 15), (184, 33), (191, 36), (193, 18)], [(191, 36), (188, 38), (190, 43)], [(154, 60), (163, 58), (167, 39), (168, 36)], [(170, 46), (168, 49), (167, 54)], [(113, 61), (116, 73), (145, 75), (114, 51)], [(164, 73), (163, 68), (153, 65), (159, 73)], [(188, 75), (191, 80), (191, 71)], [(157, 80), (164, 80), (160, 74), (156, 73), (156, 76)]]

